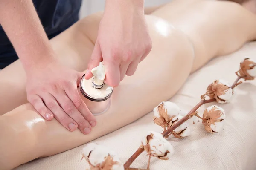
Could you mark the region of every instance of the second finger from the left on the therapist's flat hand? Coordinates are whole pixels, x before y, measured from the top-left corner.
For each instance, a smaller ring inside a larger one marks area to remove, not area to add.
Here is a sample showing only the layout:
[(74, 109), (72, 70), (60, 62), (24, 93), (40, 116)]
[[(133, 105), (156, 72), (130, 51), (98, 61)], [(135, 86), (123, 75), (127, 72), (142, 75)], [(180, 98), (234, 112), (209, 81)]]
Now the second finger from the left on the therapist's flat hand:
[(68, 116), (64, 110), (59, 106), (56, 99), (49, 93), (40, 94), (41, 98), (44, 100), (45, 106), (52, 111), (54, 117), (59, 121), (67, 130), (73, 132), (78, 127), (76, 121), (74, 121), (70, 116)]

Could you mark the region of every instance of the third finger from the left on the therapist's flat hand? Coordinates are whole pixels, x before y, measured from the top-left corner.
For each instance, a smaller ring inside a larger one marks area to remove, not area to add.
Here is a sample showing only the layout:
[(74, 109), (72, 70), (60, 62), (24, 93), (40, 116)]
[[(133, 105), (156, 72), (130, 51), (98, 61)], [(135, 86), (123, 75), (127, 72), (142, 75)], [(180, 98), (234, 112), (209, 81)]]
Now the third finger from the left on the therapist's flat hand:
[[(64, 110), (65, 114), (68, 115), (70, 118), (72, 118), (76, 122), (76, 124), (78, 125), (78, 129), (84, 134), (90, 133), (91, 125), (87, 120), (85, 120), (83, 115), (81, 115), (81, 113), (73, 104), (73, 102), (70, 100), (70, 98), (67, 96), (65, 91), (61, 90), (58, 93), (54, 93), (53, 96), (56, 98), (56, 100), (59, 103), (59, 106)], [(79, 104), (79, 102), (77, 101), (76, 104)], [(81, 108), (82, 105), (79, 107)], [(64, 119), (59, 121), (62, 123), (62, 121), (66, 121), (66, 120)], [(70, 121), (70, 123), (73, 123), (73, 122)]]

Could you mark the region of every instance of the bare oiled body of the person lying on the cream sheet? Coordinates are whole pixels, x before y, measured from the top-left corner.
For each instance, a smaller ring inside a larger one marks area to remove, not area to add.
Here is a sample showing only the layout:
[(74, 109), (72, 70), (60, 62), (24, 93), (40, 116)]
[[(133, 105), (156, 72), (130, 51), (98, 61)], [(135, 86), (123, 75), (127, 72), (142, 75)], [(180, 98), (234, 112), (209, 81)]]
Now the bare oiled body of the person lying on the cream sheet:
[[(85, 17), (51, 40), (61, 63), (86, 69), (101, 16)], [(26, 104), (20, 61), (0, 72), (0, 112), (7, 112), (0, 116), (1, 168), (69, 150), (137, 120), (171, 98), (189, 74), (211, 58), (234, 52), (256, 38), (255, 15), (232, 2), (174, 0), (146, 20), (153, 48), (135, 74), (114, 90), (110, 109), (96, 117), (97, 126), (89, 135), (70, 132), (55, 119), (45, 121)]]

